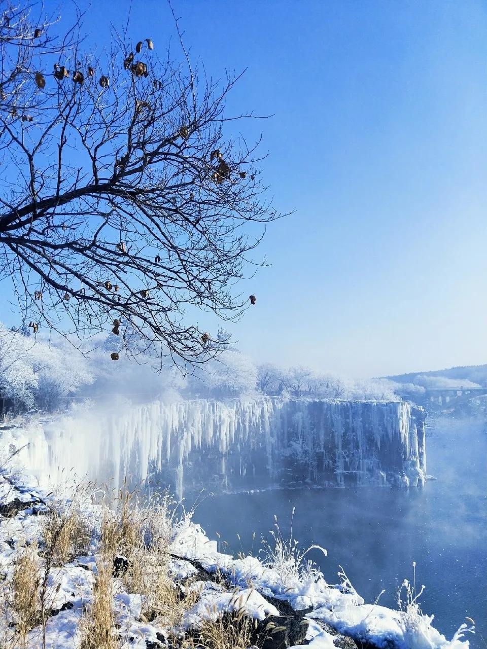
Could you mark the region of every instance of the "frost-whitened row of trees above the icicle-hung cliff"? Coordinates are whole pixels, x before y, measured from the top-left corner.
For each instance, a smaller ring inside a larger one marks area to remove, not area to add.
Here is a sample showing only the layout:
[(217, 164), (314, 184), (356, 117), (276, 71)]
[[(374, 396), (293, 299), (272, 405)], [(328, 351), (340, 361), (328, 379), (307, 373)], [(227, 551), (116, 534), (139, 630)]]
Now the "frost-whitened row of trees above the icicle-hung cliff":
[(240, 350), (228, 349), (225, 330), (216, 336), (214, 344), (221, 346), (217, 358), (186, 376), (170, 362), (160, 367), (160, 359), (143, 349), (136, 330), (126, 336), (134, 356), (123, 356), (115, 365), (109, 356), (118, 344), (114, 334), (95, 336), (81, 353), (64, 337), (34, 337), (25, 327), (0, 325), (0, 398), (15, 404), (14, 410), (56, 410), (73, 400), (90, 407), (91, 401), (120, 397), (397, 399), (395, 384), (385, 380), (351, 380), (302, 365), (256, 364)]

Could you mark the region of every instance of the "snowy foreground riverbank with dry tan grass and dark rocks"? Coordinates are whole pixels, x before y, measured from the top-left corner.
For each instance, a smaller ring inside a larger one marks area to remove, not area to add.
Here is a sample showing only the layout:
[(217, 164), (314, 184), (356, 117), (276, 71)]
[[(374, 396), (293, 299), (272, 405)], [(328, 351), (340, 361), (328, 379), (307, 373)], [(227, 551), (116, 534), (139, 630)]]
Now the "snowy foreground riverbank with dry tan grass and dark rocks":
[(6, 649), (468, 647), (466, 625), (447, 641), (408, 584), (394, 611), (366, 604), (343, 572), (327, 583), (277, 526), (262, 561), (234, 557), (168, 496), (77, 485), (61, 498), (28, 482), (4, 468)]

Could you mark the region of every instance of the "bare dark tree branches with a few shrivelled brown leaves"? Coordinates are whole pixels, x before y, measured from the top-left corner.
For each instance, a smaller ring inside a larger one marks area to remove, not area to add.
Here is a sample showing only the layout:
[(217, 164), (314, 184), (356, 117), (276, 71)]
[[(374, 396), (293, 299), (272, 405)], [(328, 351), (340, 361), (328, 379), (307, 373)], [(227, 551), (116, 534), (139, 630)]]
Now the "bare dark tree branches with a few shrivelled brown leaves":
[(0, 14), (0, 253), (23, 317), (81, 340), (119, 328), (121, 350), (128, 326), (184, 369), (205, 362), (221, 345), (186, 309), (240, 317), (234, 287), (280, 216), (258, 143), (223, 133), (253, 117), (225, 114), (239, 77), (213, 82), (184, 46), (184, 64), (158, 59), (127, 29), (85, 53), (81, 16), (59, 38), (35, 6)]

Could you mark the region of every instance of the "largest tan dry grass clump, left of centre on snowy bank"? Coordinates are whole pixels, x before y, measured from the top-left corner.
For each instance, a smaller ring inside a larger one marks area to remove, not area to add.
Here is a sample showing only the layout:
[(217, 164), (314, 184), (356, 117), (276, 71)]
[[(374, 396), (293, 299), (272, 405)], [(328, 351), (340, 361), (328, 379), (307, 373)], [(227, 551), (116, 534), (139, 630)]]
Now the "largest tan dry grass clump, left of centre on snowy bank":
[(140, 498), (121, 489), (105, 506), (100, 530), (100, 567), (93, 604), (82, 625), (81, 649), (113, 649), (118, 641), (112, 630), (116, 620), (112, 598), (116, 580), (114, 559), (127, 558), (129, 567), (121, 575), (128, 593), (142, 595), (142, 618), (163, 626), (181, 624), (184, 611), (196, 595), (184, 596), (168, 575), (172, 521), (171, 498), (166, 493)]

